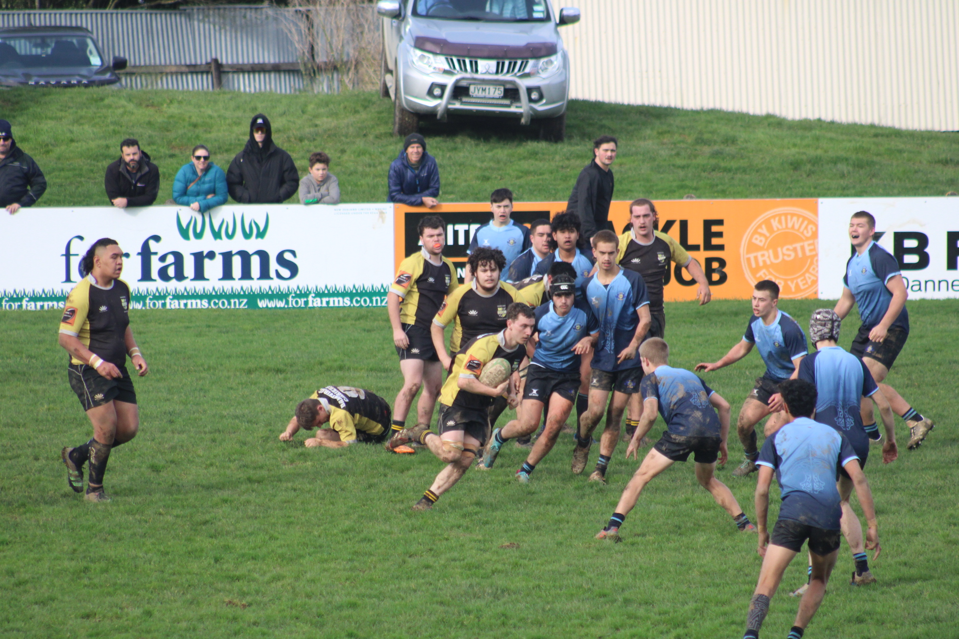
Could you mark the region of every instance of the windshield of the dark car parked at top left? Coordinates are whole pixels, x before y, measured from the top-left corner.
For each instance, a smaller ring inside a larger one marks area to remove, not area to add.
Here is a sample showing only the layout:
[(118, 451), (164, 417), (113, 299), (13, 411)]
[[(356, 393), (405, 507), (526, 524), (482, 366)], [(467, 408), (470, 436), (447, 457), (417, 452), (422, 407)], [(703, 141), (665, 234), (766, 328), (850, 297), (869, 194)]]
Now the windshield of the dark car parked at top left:
[(31, 35), (0, 39), (0, 67), (101, 67), (93, 38), (83, 35)]

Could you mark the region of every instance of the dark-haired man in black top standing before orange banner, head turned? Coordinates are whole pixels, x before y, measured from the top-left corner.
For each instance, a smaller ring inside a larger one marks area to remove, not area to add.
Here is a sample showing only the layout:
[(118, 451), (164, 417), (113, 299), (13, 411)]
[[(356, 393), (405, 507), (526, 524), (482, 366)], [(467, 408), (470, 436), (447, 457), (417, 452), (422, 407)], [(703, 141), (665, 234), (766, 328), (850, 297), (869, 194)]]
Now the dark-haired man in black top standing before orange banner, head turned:
[(609, 229), (609, 204), (613, 201), (613, 171), (610, 165), (616, 159), (617, 141), (612, 135), (600, 135), (593, 141), (593, 160), (579, 171), (567, 213), (579, 216), (583, 240), (593, 240), (597, 231)]

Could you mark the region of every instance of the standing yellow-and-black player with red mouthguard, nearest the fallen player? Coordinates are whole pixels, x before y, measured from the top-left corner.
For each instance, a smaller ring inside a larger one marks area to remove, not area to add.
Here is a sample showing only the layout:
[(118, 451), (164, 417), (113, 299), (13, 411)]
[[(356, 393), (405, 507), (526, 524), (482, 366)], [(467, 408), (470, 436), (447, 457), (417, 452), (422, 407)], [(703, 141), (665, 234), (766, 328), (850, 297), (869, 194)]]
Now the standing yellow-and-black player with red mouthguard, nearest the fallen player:
[[(433, 317), (447, 295), (456, 290), (456, 267), (443, 257), (446, 245), (442, 217), (428, 216), (417, 228), (423, 248), (400, 262), (396, 279), (386, 294), (386, 310), (393, 327), (393, 344), (400, 355), (403, 388), (393, 402), (391, 430), (397, 433), (406, 425), (409, 406), (420, 388), (416, 422), (430, 423), (443, 381), (443, 370), (433, 348), (430, 327)], [(445, 353), (444, 353), (445, 354)]]

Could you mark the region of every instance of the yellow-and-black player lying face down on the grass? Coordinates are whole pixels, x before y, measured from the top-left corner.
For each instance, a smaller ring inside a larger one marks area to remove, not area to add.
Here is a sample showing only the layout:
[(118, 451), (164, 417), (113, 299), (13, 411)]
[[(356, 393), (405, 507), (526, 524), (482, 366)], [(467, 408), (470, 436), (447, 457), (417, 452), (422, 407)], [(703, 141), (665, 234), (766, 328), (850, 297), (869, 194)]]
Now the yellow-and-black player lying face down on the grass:
[[(328, 423), (328, 427), (323, 424)], [(340, 448), (357, 442), (382, 444), (390, 433), (390, 411), (386, 399), (363, 388), (324, 386), (296, 405), (281, 442), (292, 441), (300, 428), (318, 428), (305, 442), (308, 448)]]

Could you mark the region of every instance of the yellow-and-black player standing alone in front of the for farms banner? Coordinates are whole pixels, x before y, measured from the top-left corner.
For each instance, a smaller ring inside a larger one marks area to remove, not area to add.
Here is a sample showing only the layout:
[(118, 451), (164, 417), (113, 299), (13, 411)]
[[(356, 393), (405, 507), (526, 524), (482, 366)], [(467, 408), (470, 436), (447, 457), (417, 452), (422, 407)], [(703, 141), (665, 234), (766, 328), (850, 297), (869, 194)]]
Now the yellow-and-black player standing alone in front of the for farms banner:
[(140, 427), (127, 355), (139, 377), (150, 369), (129, 328), (129, 285), (120, 279), (123, 249), (109, 238), (93, 242), (81, 272), (83, 279), (66, 298), (58, 341), (70, 354), (70, 388), (93, 424), (93, 438), (63, 448), (60, 457), (74, 492), (83, 491), (83, 465), (90, 462), (84, 498), (104, 502), (110, 501), (104, 491), (110, 451), (136, 437)]

